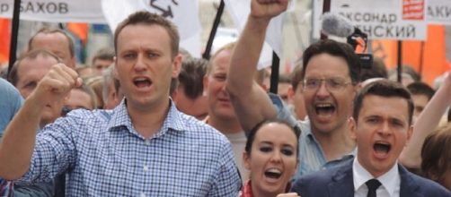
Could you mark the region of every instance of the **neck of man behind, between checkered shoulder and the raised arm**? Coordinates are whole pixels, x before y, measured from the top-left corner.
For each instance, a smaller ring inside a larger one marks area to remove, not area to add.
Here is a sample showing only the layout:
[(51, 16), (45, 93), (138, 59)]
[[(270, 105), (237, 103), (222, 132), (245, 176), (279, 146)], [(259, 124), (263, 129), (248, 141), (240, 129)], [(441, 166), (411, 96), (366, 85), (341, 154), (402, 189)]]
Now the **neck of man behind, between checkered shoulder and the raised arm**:
[(236, 118), (225, 119), (217, 116), (208, 116), (207, 124), (224, 134), (243, 132), (243, 128)]

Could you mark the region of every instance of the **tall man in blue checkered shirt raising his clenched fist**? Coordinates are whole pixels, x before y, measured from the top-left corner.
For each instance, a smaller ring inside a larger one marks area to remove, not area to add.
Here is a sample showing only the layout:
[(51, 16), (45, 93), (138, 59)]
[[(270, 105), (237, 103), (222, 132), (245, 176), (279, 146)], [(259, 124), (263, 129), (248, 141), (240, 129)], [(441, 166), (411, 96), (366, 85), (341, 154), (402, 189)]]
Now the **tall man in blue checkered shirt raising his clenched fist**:
[(42, 108), (81, 85), (75, 71), (54, 65), (6, 129), (0, 177), (42, 182), (67, 173), (66, 196), (236, 196), (230, 143), (169, 98), (181, 69), (173, 24), (131, 14), (114, 46), (126, 99), (113, 110), (75, 110), (35, 136)]

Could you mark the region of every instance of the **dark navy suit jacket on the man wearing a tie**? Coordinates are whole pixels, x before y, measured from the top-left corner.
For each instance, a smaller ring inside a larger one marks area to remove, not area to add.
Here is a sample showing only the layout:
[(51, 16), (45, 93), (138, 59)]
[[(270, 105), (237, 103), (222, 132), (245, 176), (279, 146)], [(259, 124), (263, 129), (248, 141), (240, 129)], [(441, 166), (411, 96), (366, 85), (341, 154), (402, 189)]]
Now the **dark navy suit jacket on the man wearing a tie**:
[[(340, 167), (332, 167), (327, 170), (303, 176), (295, 181), (292, 192), (302, 197), (351, 197), (354, 196), (354, 181), (352, 179), (352, 161)], [(441, 197), (451, 196), (443, 186), (413, 175), (401, 165), (399, 174), (401, 176), (400, 197)]]

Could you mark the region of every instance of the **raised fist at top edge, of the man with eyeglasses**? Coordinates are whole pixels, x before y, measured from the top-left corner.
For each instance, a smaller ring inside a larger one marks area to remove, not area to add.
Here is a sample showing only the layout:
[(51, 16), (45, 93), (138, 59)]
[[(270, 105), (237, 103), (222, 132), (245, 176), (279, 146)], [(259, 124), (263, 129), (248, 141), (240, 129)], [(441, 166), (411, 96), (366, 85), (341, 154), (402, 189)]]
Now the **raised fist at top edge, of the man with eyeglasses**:
[(252, 0), (251, 16), (270, 20), (287, 10), (288, 0)]

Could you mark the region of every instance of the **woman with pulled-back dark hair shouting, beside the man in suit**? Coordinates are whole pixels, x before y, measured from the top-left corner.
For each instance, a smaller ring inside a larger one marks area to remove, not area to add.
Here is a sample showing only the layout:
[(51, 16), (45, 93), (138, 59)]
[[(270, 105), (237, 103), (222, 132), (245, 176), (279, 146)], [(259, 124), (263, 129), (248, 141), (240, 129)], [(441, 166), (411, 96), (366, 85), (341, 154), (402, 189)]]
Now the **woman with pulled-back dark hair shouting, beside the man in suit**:
[(298, 137), (298, 131), (278, 120), (262, 122), (252, 129), (243, 152), (244, 167), (251, 176), (243, 186), (241, 197), (275, 197), (287, 193), (298, 162)]

